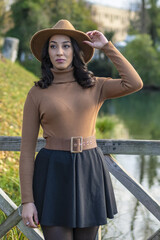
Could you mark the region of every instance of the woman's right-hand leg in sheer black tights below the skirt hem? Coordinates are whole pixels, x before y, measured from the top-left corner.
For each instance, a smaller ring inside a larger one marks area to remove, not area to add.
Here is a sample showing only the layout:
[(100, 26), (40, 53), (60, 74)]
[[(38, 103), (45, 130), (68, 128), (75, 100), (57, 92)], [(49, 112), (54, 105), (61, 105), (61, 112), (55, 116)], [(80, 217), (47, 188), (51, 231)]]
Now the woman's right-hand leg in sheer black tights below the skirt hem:
[(95, 240), (99, 226), (86, 228), (73, 228), (74, 240)]

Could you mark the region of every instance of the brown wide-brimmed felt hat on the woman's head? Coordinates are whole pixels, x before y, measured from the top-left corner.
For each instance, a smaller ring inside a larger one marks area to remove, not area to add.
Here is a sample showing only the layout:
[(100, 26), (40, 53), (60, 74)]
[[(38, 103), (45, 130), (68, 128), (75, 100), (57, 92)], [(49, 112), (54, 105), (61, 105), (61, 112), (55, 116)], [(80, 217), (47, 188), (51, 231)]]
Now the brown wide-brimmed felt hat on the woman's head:
[(88, 35), (84, 32), (75, 30), (68, 20), (61, 19), (52, 28), (42, 29), (32, 36), (30, 41), (31, 51), (39, 61), (41, 61), (41, 53), (44, 44), (48, 38), (54, 34), (62, 34), (74, 38), (84, 53), (84, 61), (87, 63), (91, 60), (94, 54), (94, 48), (83, 43), (85, 40), (91, 41)]

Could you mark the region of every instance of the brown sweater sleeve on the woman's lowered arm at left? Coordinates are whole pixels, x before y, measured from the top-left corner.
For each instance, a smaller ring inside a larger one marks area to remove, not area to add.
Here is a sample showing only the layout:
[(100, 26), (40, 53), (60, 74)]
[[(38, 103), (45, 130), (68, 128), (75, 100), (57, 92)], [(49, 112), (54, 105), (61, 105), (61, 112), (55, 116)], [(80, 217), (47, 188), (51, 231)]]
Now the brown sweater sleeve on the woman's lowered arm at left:
[(39, 127), (40, 120), (38, 107), (35, 105), (31, 93), (28, 92), (23, 109), (22, 138), (19, 163), (22, 204), (26, 202), (34, 202), (32, 193), (32, 178)]

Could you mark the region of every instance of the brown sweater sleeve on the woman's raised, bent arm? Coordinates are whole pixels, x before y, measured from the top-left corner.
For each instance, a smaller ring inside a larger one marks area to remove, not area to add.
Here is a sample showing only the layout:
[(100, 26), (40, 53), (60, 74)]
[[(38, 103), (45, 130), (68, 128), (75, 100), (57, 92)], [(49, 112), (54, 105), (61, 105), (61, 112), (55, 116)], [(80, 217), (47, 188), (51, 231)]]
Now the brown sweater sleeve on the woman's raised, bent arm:
[(102, 89), (100, 101), (117, 98), (136, 92), (143, 87), (143, 82), (134, 67), (109, 41), (102, 50), (117, 68), (121, 78), (101, 78)]

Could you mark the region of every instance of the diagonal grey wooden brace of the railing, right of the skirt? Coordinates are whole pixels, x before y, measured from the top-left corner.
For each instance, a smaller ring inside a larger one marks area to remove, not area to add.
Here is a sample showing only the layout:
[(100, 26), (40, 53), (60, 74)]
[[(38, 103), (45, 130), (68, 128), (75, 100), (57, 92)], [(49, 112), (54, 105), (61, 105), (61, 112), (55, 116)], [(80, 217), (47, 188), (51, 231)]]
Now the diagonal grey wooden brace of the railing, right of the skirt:
[(106, 156), (105, 161), (113, 176), (160, 221), (160, 204), (123, 169), (113, 156)]

